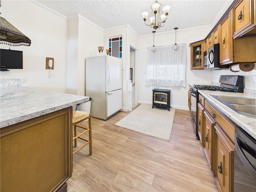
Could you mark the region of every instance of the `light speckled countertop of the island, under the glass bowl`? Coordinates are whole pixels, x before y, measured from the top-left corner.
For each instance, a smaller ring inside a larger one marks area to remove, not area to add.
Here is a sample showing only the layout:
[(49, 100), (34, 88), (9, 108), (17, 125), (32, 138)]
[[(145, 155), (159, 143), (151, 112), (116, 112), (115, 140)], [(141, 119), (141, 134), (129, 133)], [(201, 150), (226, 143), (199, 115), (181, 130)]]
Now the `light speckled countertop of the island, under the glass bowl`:
[(0, 128), (89, 101), (90, 97), (21, 88), (0, 100)]

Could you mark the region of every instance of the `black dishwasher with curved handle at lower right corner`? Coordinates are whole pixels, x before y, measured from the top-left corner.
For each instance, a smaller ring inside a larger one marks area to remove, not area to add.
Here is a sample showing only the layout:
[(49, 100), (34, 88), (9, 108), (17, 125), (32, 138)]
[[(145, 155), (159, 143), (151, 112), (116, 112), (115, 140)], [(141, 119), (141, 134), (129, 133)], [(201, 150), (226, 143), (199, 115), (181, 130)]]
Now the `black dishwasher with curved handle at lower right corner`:
[(256, 140), (242, 128), (235, 129), (234, 192), (256, 191)]

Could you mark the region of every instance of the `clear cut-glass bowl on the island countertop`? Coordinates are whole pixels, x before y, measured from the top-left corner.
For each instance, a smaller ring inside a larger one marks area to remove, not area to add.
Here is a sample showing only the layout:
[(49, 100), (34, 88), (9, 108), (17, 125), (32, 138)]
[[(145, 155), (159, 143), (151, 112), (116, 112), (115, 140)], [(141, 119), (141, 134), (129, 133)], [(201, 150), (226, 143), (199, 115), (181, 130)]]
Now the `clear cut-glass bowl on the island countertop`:
[(21, 85), (21, 79), (0, 79), (0, 97), (17, 92)]

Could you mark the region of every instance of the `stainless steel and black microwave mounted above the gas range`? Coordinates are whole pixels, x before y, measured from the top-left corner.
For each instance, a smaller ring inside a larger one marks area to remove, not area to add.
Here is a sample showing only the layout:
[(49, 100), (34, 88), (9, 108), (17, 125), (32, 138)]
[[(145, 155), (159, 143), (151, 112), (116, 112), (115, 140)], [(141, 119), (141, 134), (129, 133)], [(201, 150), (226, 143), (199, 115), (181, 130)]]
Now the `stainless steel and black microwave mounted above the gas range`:
[(204, 69), (222, 70), (228, 68), (220, 65), (220, 44), (214, 44), (204, 52)]

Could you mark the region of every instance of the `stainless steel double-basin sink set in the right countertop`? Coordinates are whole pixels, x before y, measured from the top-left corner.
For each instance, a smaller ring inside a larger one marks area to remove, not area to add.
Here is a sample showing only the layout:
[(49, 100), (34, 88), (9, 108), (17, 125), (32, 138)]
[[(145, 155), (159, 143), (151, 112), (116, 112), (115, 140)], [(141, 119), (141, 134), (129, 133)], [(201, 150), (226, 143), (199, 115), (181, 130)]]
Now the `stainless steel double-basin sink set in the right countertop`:
[(256, 118), (256, 99), (232, 96), (210, 95), (240, 115)]

